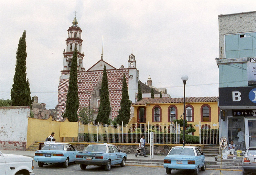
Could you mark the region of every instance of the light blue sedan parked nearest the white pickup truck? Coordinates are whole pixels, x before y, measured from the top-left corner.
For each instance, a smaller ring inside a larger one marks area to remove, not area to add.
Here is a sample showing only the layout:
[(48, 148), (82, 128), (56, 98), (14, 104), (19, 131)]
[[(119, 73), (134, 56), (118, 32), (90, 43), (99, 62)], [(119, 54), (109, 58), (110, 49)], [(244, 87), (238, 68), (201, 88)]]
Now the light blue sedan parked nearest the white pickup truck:
[(76, 149), (69, 143), (52, 142), (46, 144), (41, 150), (35, 152), (34, 160), (39, 167), (47, 163), (62, 163), (67, 168), (69, 162), (76, 160)]

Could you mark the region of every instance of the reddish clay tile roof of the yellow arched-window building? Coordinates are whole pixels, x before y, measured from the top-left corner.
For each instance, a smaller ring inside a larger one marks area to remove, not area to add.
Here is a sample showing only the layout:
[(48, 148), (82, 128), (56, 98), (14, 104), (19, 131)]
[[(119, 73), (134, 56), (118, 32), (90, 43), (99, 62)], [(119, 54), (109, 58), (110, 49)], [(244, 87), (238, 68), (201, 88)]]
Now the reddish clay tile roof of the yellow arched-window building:
[[(219, 97), (187, 97), (186, 103), (217, 102)], [(144, 98), (132, 105), (146, 105), (154, 103), (183, 103), (183, 98)]]

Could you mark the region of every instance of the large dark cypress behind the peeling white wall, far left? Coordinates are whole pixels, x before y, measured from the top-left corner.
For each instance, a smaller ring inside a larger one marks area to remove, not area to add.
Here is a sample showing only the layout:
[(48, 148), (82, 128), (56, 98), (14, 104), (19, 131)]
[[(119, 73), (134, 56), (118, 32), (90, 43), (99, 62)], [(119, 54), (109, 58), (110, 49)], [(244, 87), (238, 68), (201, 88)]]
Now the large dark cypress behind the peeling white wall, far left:
[(26, 30), (19, 39), (16, 52), (16, 67), (13, 77), (13, 86), (11, 89), (11, 106), (30, 106), (32, 108), (33, 100), (30, 96), (30, 87), (27, 79), (26, 67)]

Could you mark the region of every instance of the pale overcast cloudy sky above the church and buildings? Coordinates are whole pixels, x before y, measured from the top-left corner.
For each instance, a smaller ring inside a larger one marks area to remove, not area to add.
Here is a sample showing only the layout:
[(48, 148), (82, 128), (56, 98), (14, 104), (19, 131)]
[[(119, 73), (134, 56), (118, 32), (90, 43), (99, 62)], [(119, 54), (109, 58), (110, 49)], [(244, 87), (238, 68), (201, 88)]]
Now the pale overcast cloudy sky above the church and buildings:
[(255, 11), (256, 1), (24, 0), (0, 1), (0, 98), (10, 99), (19, 37), (27, 31), (27, 78), (31, 96), (54, 108), (75, 16), (82, 29), (84, 68), (103, 59), (119, 68), (135, 55), (139, 79), (183, 97), (218, 96), (218, 15)]

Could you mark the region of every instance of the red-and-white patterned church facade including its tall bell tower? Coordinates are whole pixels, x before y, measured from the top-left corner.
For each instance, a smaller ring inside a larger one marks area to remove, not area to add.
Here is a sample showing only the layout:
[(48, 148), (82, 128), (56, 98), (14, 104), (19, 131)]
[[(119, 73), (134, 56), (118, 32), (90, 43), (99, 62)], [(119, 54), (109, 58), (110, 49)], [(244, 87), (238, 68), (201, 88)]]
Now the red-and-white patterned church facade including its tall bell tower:
[[(57, 120), (62, 120), (62, 114), (65, 113), (66, 110), (67, 92), (69, 87), (69, 73), (75, 48), (78, 50), (77, 81), (79, 107), (89, 107), (90, 109), (94, 109), (94, 117), (97, 116), (98, 107), (100, 104), (103, 67), (106, 65), (111, 105), (110, 118), (113, 119), (117, 116), (117, 111), (120, 109), (120, 102), (122, 99), (123, 74), (125, 74), (128, 85), (129, 99), (133, 103), (136, 102), (139, 71), (136, 69), (135, 56), (133, 54), (129, 56), (127, 68), (125, 68), (123, 65), (120, 68), (115, 68), (114, 66), (104, 61), (103, 56), (101, 55), (101, 59), (99, 61), (97, 61), (95, 64), (91, 64), (92, 66), (88, 70), (85, 70), (83, 67), (84, 53), (82, 52), (82, 30), (78, 26), (76, 17), (74, 18), (72, 24), (73, 25), (68, 29), (66, 51), (64, 50), (63, 52), (63, 70), (61, 70), (58, 87)], [(87, 63), (87, 65), (90, 65), (90, 63)]]

